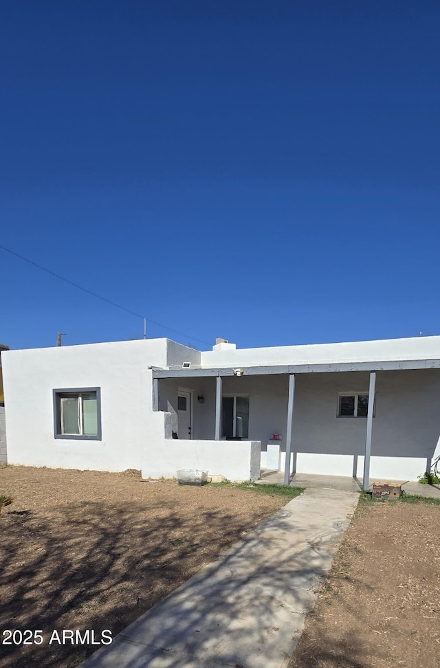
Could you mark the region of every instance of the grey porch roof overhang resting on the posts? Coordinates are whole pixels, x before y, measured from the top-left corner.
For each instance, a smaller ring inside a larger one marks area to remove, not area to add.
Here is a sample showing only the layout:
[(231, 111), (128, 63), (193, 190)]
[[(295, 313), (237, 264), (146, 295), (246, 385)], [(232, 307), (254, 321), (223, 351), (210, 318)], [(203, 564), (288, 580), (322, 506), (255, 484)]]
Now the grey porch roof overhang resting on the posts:
[[(225, 368), (175, 368), (151, 367), (153, 378), (197, 378), (210, 376), (235, 376), (237, 367)], [(240, 375), (265, 376), (292, 373), (329, 373), (343, 371), (403, 371), (440, 369), (440, 359), (406, 359), (391, 361), (333, 362), (331, 364), (286, 364), (267, 366), (239, 366)]]

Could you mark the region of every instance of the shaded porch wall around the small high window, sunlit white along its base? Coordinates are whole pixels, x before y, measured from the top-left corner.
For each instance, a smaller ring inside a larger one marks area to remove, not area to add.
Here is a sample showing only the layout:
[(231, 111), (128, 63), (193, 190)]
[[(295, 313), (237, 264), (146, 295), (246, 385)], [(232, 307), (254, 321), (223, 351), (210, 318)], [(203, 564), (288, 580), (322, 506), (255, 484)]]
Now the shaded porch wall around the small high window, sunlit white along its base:
[[(298, 375), (294, 412), (296, 469), (362, 476), (366, 419), (337, 418), (338, 392), (362, 392), (369, 375)], [(318, 401), (316, 383), (320, 391)], [(371, 477), (415, 480), (426, 470), (440, 434), (440, 370), (377, 372)], [(332, 455), (322, 455), (331, 452)]]

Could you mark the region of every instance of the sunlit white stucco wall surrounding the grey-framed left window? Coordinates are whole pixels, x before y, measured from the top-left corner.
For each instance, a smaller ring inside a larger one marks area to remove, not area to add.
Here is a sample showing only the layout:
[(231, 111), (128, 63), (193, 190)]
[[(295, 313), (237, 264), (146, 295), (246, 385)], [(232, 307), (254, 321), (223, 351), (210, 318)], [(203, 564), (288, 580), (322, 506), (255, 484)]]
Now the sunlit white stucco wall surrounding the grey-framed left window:
[[(164, 438), (153, 413), (151, 370), (166, 366), (166, 339), (10, 350), (2, 355), (11, 464), (122, 471)], [(101, 388), (102, 441), (54, 438), (52, 390)]]

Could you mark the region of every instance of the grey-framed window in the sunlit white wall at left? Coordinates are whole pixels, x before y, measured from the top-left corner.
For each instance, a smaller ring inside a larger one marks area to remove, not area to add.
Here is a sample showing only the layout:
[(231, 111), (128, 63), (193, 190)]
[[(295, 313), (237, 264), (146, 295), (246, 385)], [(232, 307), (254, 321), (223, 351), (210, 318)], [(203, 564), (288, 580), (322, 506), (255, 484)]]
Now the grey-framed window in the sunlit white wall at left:
[(54, 390), (55, 438), (101, 440), (100, 388)]

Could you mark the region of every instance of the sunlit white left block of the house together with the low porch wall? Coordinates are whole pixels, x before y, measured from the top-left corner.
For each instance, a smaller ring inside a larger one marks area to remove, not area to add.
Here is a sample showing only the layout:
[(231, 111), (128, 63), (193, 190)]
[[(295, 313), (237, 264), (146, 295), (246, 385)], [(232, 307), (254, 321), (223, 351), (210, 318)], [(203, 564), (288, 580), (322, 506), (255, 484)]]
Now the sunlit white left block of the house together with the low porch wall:
[[(256, 480), (260, 443), (175, 441), (173, 414), (153, 411), (151, 366), (199, 363), (197, 350), (167, 339), (11, 350), (3, 357), (10, 464), (123, 471), (174, 478), (203, 468), (229, 480)], [(191, 385), (191, 381), (188, 381)], [(163, 408), (177, 411), (177, 388)], [(54, 389), (99, 387), (102, 441), (54, 438)], [(191, 387), (189, 388), (192, 389)], [(174, 408), (175, 407), (175, 408)], [(195, 394), (194, 412), (201, 405)], [(195, 434), (196, 436), (196, 434)]]

